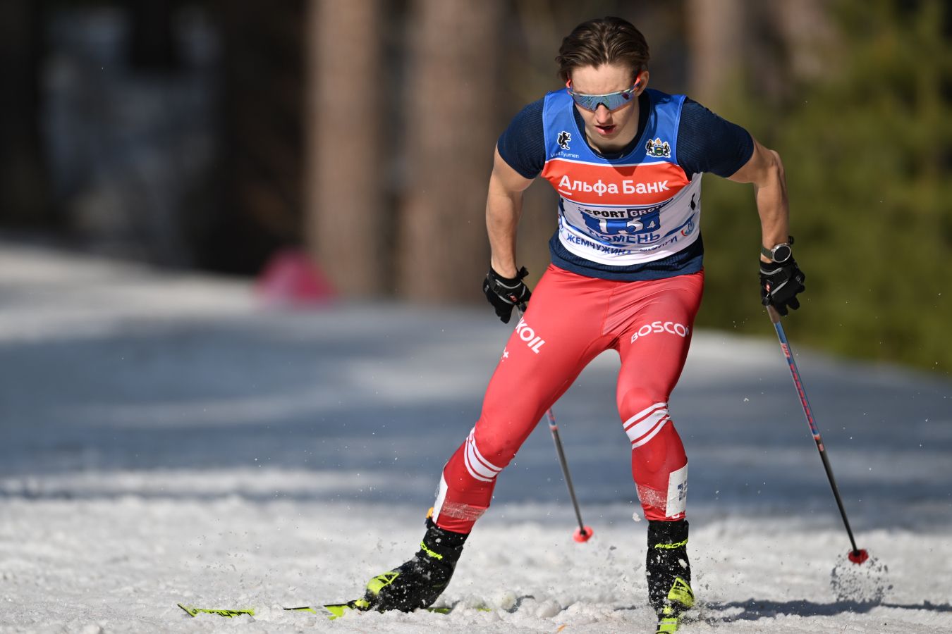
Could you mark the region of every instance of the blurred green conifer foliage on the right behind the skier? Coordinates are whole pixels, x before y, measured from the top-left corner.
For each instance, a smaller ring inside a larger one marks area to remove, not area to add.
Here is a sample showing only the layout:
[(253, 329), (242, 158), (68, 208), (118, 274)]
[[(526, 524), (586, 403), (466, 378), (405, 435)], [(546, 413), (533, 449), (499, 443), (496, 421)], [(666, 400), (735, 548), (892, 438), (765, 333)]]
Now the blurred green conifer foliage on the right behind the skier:
[[(940, 0), (847, 0), (823, 75), (724, 108), (783, 158), (803, 308), (797, 342), (952, 371), (952, 52)], [(739, 78), (744, 84), (744, 78)], [(737, 90), (734, 94), (749, 95)], [(768, 332), (749, 189), (704, 183), (700, 325)]]

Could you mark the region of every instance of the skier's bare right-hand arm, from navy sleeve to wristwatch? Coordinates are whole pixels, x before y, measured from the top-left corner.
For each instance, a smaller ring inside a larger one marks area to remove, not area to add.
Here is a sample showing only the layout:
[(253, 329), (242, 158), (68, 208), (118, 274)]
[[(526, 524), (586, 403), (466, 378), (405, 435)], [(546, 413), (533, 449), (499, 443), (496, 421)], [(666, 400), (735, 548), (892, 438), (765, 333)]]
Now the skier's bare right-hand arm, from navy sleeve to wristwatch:
[[(736, 183), (753, 183), (764, 246), (770, 248), (787, 241), (789, 208), (780, 155), (754, 140), (750, 160), (728, 178)], [(763, 255), (761, 259), (770, 261)]]

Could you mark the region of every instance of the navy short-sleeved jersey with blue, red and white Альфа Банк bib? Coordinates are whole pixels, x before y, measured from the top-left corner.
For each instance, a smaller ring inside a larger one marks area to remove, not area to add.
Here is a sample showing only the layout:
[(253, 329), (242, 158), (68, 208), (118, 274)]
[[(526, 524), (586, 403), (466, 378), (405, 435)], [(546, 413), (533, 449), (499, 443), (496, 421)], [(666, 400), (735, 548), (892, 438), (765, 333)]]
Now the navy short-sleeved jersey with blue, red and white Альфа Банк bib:
[(526, 106), (499, 139), (522, 176), (543, 175), (560, 196), (552, 261), (593, 278), (662, 279), (702, 268), (701, 175), (727, 177), (753, 140), (684, 95), (648, 89), (634, 139), (617, 154), (585, 142), (585, 122), (567, 92)]

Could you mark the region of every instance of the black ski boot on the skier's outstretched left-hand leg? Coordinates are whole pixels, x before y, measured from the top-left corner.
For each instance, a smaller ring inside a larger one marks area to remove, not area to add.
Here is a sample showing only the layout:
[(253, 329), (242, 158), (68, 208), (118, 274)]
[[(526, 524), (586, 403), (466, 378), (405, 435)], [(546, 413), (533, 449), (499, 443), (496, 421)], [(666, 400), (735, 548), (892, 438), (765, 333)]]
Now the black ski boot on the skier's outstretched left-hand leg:
[(367, 594), (356, 603), (360, 609), (380, 612), (411, 612), (433, 605), (449, 584), (468, 536), (439, 528), (426, 518), (426, 535), (413, 559), (367, 582)]

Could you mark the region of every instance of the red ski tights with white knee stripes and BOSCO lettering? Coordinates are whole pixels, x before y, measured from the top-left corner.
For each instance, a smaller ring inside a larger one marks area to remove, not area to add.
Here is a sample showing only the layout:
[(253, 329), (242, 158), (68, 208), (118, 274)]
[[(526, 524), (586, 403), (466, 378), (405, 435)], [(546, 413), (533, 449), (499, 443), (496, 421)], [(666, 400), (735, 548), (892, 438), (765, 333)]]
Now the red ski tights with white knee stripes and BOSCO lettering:
[(467, 533), (486, 512), (496, 476), (576, 376), (618, 352), (618, 411), (649, 520), (684, 517), (687, 457), (667, 411), (684, 368), (704, 273), (611, 281), (550, 265), (489, 381), (483, 412), (443, 470), (433, 520)]

